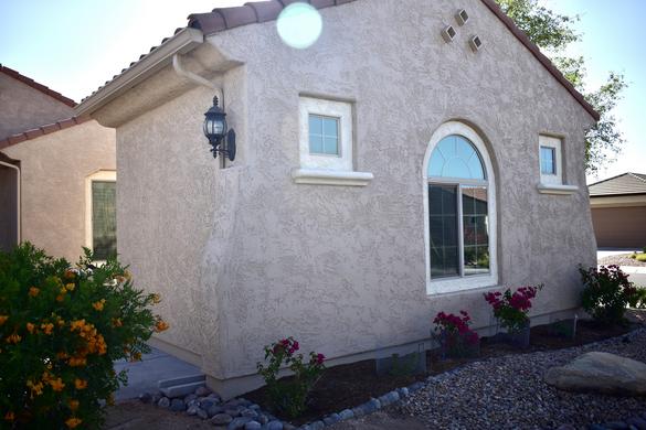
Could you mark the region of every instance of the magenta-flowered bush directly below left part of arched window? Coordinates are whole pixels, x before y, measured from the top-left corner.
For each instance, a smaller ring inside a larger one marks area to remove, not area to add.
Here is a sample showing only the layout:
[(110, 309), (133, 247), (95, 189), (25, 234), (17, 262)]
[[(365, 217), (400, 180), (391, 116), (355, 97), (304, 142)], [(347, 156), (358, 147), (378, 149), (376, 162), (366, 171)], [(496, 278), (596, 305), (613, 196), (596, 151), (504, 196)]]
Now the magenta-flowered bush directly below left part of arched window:
[(434, 337), (440, 342), (444, 357), (464, 357), (477, 354), (478, 334), (469, 325), (472, 318), (466, 311), (459, 315), (440, 312), (433, 320)]

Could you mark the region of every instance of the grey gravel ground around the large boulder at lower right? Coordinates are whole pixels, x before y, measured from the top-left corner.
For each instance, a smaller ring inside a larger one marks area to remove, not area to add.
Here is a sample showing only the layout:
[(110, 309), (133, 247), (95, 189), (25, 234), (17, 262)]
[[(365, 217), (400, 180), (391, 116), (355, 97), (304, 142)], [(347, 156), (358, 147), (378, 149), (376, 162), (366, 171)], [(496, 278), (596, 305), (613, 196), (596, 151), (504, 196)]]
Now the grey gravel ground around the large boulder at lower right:
[(580, 347), (509, 355), (468, 364), (453, 373), (431, 377), (421, 391), (401, 406), (428, 428), (441, 429), (555, 429), (585, 428), (593, 422), (625, 420), (646, 412), (646, 398), (571, 394), (548, 386), (542, 377), (553, 366), (576, 356), (608, 352), (646, 359), (646, 329), (623, 338)]

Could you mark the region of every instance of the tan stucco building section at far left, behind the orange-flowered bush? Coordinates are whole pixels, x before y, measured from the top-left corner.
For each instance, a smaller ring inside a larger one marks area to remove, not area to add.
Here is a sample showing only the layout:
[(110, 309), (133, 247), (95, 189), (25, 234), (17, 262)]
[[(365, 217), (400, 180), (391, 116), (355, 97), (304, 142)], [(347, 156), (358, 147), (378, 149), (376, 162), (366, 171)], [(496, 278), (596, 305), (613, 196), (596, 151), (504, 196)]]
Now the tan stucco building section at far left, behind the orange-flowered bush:
[(76, 261), (116, 247), (115, 130), (0, 66), (0, 249), (22, 240)]

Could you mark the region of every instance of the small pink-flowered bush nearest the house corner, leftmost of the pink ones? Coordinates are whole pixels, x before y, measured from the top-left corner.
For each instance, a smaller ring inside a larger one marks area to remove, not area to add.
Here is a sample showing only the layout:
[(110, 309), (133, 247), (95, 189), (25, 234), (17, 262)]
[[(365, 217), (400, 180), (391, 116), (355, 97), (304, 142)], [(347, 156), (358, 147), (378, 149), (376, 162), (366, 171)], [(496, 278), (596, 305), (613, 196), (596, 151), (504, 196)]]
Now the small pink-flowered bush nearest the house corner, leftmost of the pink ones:
[[(309, 361), (304, 362), (303, 354), (296, 355), (299, 345), (294, 337), (287, 337), (265, 346), (267, 366), (257, 364), (258, 373), (267, 384), (267, 394), (272, 406), (278, 413), (289, 418), (300, 416), (307, 407), (307, 396), (325, 369), (325, 356), (309, 353)], [(278, 379), (280, 367), (286, 366), (294, 376)]]

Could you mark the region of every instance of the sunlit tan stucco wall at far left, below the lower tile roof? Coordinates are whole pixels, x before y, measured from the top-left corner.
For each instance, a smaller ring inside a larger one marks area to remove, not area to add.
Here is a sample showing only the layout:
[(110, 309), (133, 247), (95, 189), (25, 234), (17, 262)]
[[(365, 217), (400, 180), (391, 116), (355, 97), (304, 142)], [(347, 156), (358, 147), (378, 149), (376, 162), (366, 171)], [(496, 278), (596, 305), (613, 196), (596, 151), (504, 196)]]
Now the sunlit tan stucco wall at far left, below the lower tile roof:
[(76, 261), (85, 243), (85, 180), (116, 170), (115, 130), (87, 121), (2, 150), (21, 162), (22, 240)]

